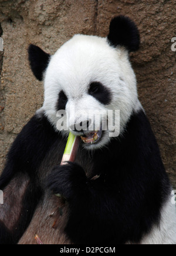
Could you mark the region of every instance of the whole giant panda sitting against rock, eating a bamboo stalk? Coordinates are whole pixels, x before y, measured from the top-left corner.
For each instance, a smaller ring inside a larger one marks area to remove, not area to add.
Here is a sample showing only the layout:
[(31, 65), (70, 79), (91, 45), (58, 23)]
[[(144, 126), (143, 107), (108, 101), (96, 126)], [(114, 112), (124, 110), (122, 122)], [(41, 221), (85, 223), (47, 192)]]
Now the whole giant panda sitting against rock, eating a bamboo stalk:
[[(176, 242), (172, 188), (129, 60), (139, 45), (136, 24), (116, 16), (107, 38), (75, 35), (53, 56), (29, 46), (45, 99), (0, 178), (1, 244), (35, 244), (35, 234), (43, 244)], [(57, 129), (59, 110), (68, 113), (67, 131)], [(119, 136), (100, 127), (92, 141), (95, 130), (86, 126), (94, 121), (82, 110), (120, 110)], [(69, 132), (80, 137), (79, 149), (74, 162), (60, 165)]]

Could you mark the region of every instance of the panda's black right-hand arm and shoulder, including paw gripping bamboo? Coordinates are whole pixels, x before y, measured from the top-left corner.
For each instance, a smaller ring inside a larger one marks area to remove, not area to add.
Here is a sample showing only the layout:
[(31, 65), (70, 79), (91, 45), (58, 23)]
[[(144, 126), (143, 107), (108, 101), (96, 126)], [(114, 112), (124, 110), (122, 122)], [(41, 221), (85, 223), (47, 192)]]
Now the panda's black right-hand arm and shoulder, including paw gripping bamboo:
[(70, 214), (66, 233), (76, 244), (140, 242), (170, 194), (157, 142), (144, 112), (134, 114), (126, 133), (94, 151), (90, 180), (77, 163), (58, 166), (49, 176), (53, 193), (63, 194)]

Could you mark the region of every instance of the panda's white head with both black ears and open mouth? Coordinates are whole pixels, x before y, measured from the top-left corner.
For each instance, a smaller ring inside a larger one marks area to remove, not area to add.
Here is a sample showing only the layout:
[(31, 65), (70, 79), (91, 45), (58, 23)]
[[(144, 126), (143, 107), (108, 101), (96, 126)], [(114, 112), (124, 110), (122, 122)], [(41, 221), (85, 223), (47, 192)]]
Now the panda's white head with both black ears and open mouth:
[[(81, 136), (83, 146), (91, 150), (105, 146), (114, 137), (110, 122), (114, 131), (120, 128), (123, 133), (131, 114), (141, 108), (129, 61), (129, 53), (139, 45), (138, 29), (125, 16), (111, 20), (107, 38), (75, 35), (52, 56), (30, 45), (32, 72), (44, 80), (42, 109), (53, 127), (64, 135), (71, 130)], [(66, 115), (59, 116), (64, 110)], [(120, 123), (115, 110), (120, 110)], [(101, 113), (99, 124), (93, 113)], [(57, 126), (61, 118), (64, 130)]]

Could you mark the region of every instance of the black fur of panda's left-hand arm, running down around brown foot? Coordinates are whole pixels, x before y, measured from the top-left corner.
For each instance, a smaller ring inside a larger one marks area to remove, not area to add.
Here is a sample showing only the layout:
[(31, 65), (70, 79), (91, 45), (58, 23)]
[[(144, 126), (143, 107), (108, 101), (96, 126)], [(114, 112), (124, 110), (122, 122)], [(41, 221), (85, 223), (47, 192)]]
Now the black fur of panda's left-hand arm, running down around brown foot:
[(0, 223), (0, 244), (6, 244), (7, 242), (16, 244), (28, 227), (43, 194), (40, 179), (44, 174), (38, 174), (38, 168), (53, 145), (55, 143), (59, 145), (63, 140), (59, 133), (56, 133), (53, 127), (50, 126), (48, 119), (43, 114), (40, 115), (40, 117), (33, 116), (16, 137), (9, 150), (5, 169), (0, 177), (1, 190), (4, 190), (14, 177), (18, 177), (20, 183), (21, 173), (26, 173), (30, 177), (22, 200), (21, 218), (17, 223), (14, 223), (14, 229), (9, 231), (5, 225)]

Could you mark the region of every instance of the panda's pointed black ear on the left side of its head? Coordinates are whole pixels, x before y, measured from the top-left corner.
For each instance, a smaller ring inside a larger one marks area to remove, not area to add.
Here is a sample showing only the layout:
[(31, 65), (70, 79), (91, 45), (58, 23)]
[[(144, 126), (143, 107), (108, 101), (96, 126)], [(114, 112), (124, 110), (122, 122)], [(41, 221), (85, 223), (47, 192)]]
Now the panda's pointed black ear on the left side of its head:
[(29, 45), (28, 55), (33, 75), (42, 81), (43, 72), (48, 66), (50, 55), (35, 45)]

